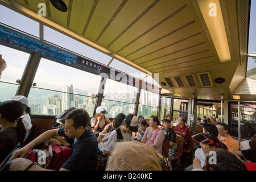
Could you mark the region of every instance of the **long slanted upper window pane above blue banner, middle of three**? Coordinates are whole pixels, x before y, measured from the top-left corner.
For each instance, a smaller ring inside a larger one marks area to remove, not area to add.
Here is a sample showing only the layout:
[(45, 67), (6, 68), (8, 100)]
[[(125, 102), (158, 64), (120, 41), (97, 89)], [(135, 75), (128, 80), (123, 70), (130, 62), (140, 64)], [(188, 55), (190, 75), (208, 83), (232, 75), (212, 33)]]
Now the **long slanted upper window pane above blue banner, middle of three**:
[(47, 26), (44, 26), (44, 40), (68, 49), (70, 51), (79, 53), (82, 56), (88, 57), (105, 65), (108, 64), (111, 60), (110, 56), (100, 51), (97, 51), (94, 48), (86, 46), (85, 44), (75, 39), (72, 39), (67, 35), (61, 34), (60, 32), (57, 32)]

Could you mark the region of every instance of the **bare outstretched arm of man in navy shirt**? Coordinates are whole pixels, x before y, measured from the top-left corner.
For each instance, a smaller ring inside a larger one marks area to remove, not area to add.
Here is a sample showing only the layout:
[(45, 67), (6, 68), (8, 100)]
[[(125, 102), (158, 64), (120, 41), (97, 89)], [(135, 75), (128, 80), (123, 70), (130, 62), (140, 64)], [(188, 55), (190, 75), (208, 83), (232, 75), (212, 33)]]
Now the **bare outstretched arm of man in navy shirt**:
[(59, 129), (48, 130), (48, 131), (44, 132), (43, 134), (39, 135), (37, 138), (32, 140), (30, 143), (26, 144), (26, 146), (15, 151), (11, 160), (13, 160), (15, 158), (23, 158), (27, 154), (30, 147), (36, 146), (40, 143), (45, 142), (49, 138), (52, 138), (53, 136), (59, 135), (58, 131), (59, 131)]

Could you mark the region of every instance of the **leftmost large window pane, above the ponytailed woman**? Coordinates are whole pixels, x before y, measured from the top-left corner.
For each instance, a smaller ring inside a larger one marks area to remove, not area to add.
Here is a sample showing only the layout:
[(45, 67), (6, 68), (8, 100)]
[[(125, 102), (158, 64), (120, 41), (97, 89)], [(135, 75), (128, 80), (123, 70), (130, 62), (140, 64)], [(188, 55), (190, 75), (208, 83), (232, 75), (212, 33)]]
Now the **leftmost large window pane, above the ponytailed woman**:
[(7, 68), (2, 72), (0, 79), (0, 101), (6, 101), (15, 96), (19, 86), (16, 80), (22, 79), (30, 54), (2, 45), (0, 50), (7, 63)]

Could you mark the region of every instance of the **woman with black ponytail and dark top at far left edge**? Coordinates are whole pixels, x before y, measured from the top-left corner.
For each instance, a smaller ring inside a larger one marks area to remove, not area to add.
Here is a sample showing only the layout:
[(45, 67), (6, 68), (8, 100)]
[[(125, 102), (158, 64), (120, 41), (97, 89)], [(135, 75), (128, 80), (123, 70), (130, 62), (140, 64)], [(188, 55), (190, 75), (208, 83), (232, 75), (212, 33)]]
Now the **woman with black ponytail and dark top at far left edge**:
[(5, 101), (0, 103), (0, 164), (17, 146), (22, 144), (26, 136), (21, 115), (24, 107), (19, 101)]

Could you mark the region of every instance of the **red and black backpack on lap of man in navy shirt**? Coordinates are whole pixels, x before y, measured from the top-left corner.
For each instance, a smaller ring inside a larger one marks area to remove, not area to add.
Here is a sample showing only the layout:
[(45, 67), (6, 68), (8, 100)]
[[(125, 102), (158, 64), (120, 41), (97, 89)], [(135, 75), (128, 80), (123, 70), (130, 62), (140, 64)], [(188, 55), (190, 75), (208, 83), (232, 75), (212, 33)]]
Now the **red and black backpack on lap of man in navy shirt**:
[[(42, 158), (42, 154), (46, 154), (45, 160)], [(44, 150), (38, 150), (31, 147), (30, 150), (28, 150), (27, 159), (32, 160), (32, 162), (38, 162), (40, 167), (59, 171), (61, 166), (71, 155), (72, 150), (68, 146), (51, 144)], [(38, 160), (40, 160), (40, 162)]]

